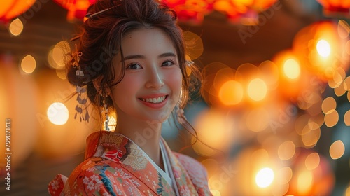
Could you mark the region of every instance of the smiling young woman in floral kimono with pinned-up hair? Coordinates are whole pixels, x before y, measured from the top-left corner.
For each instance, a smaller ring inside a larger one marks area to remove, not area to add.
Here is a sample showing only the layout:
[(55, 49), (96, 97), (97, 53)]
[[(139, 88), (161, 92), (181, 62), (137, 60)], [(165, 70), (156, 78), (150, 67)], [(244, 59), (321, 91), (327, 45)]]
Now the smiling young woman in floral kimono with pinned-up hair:
[(176, 13), (155, 0), (97, 1), (87, 13), (67, 75), (77, 85), (78, 113), (86, 87), (92, 104), (103, 109), (102, 121), (116, 111), (116, 130), (104, 125), (90, 134), (85, 161), (69, 178), (57, 175), (49, 193), (211, 195), (204, 167), (172, 152), (160, 135), (172, 113), (188, 127), (181, 108), (195, 66), (186, 61)]

